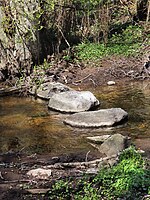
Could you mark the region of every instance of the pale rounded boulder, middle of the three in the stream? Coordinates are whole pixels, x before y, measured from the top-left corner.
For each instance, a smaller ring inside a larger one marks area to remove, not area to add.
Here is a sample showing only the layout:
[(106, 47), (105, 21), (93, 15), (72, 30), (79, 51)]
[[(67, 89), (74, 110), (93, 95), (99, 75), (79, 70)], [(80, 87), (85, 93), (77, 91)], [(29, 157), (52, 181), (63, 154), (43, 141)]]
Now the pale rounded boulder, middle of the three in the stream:
[(99, 105), (99, 101), (89, 91), (68, 91), (53, 95), (48, 107), (61, 112), (83, 112)]

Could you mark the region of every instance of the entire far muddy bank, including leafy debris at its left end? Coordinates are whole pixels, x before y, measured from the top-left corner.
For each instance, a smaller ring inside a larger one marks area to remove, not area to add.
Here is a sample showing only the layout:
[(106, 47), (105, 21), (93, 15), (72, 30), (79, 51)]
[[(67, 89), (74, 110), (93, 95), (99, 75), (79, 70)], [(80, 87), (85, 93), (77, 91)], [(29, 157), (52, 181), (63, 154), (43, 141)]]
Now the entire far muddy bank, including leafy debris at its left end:
[(56, 57), (53, 63), (47, 63), (46, 69), (39, 66), (30, 76), (24, 76), (21, 79), (8, 78), (0, 83), (0, 88), (6, 86), (29, 88), (31, 85), (49, 81), (58, 81), (71, 87), (88, 88), (106, 85), (108, 81), (125, 83), (149, 80), (150, 69), (145, 67), (146, 61), (146, 53), (136, 57), (109, 56), (95, 62), (68, 62), (60, 58), (58, 60)]

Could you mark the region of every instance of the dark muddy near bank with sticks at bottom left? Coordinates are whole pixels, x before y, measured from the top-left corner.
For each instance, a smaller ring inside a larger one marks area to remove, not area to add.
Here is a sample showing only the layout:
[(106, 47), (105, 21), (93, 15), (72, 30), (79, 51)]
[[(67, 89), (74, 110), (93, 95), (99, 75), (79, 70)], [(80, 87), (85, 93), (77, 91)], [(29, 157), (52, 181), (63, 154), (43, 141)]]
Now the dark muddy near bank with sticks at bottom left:
[(72, 169), (70, 167), (56, 168), (52, 170), (52, 175), (49, 179), (33, 180), (26, 174), (30, 169), (43, 168), (56, 163), (85, 162), (86, 159), (89, 161), (97, 158), (94, 153), (90, 153), (87, 158), (86, 153), (82, 152), (55, 157), (36, 154), (28, 156), (21, 153), (1, 154), (0, 199), (48, 199), (48, 191), (55, 181), (63, 180), (66, 177), (78, 179), (82, 177), (83, 172), (80, 169)]

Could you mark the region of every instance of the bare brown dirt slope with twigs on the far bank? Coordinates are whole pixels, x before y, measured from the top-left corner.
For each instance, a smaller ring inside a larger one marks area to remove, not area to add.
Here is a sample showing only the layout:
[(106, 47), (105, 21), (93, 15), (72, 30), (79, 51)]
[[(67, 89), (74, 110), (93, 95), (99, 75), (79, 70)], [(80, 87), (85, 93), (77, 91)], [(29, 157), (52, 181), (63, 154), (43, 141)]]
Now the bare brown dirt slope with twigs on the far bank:
[[(150, 69), (144, 67), (146, 56), (123, 57), (112, 56), (95, 62), (55, 64), (50, 68), (53, 71), (53, 80), (60, 81), (70, 86), (81, 88), (107, 85), (108, 81), (127, 82), (143, 81), (150, 78)], [(67, 66), (67, 67), (66, 67)], [(49, 73), (49, 70), (47, 70)]]

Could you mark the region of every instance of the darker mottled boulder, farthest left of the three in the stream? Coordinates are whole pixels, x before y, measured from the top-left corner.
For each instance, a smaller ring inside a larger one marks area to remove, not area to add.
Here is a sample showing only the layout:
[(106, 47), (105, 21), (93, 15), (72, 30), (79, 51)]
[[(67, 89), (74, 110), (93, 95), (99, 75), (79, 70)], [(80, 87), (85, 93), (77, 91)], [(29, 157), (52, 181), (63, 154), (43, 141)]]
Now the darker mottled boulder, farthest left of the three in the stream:
[(39, 98), (49, 100), (54, 94), (66, 92), (73, 90), (70, 87), (58, 83), (58, 82), (47, 82), (40, 85), (40, 87), (36, 90), (35, 87), (30, 91), (31, 94), (36, 95)]

